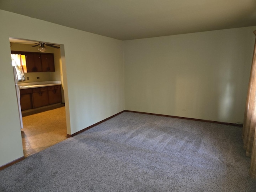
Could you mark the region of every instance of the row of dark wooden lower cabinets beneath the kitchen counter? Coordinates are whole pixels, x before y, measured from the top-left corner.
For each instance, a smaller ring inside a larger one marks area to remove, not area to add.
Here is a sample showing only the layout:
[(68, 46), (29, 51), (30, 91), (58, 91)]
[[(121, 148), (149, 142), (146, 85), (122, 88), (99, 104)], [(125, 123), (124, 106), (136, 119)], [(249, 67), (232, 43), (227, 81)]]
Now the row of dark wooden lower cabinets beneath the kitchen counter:
[(21, 110), (61, 103), (61, 86), (48, 86), (20, 90)]

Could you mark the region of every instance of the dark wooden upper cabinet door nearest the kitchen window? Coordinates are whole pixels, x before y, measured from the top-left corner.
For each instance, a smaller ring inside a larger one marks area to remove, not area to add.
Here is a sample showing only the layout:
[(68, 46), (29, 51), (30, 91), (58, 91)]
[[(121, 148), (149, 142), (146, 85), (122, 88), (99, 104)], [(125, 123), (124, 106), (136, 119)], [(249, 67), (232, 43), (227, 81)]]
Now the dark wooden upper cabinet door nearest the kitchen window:
[(37, 53), (26, 54), (27, 72), (42, 72), (41, 55)]

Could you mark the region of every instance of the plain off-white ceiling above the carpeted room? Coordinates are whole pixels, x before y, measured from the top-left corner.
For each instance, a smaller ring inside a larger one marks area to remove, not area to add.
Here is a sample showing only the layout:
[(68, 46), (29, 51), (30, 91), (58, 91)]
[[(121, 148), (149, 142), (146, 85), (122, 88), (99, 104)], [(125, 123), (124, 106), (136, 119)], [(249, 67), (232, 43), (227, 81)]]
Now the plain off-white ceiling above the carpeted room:
[(0, 0), (0, 9), (119, 40), (256, 26), (256, 0)]

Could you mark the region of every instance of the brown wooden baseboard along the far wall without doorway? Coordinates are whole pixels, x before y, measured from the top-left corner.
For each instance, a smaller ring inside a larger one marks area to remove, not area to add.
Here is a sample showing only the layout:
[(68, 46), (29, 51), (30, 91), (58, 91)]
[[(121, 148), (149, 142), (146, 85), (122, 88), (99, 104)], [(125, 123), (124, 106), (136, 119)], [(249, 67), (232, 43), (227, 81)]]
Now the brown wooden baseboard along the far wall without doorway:
[(171, 116), (171, 115), (162, 115), (162, 114), (155, 114), (155, 113), (146, 113), (146, 112), (129, 111), (129, 110), (124, 110), (124, 112), (141, 113), (141, 114), (156, 115), (156, 116), (163, 116), (163, 117), (172, 117), (172, 118), (179, 118), (179, 119), (186, 119), (186, 120), (193, 120), (193, 121), (202, 121), (202, 122), (208, 122), (208, 123), (238, 126), (238, 127), (243, 126), (243, 124), (227, 123), (227, 122), (219, 122), (219, 121), (210, 121), (210, 120), (194, 119), (194, 118), (187, 118), (187, 117), (178, 117), (178, 116)]

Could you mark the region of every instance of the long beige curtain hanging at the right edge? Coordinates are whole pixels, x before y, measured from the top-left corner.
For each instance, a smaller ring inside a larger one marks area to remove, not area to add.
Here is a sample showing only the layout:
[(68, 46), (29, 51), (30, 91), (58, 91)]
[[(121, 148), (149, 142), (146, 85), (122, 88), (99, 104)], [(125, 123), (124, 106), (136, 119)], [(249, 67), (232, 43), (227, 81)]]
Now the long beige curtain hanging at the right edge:
[[(256, 30), (254, 31), (256, 35)], [(256, 40), (244, 113), (243, 140), (246, 156), (251, 156), (250, 176), (256, 179)]]

